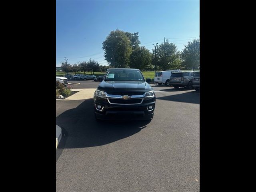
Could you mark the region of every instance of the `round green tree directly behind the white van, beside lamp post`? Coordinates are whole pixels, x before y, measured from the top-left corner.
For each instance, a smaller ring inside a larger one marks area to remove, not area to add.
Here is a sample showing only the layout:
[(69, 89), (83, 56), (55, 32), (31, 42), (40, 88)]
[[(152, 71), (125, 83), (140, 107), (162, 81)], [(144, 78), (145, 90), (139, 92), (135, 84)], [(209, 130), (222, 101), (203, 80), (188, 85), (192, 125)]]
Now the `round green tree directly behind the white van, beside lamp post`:
[(165, 43), (162, 43), (157, 47), (156, 55), (157, 63), (161, 70), (173, 70), (177, 67), (180, 53), (174, 43), (170, 43), (166, 40)]

